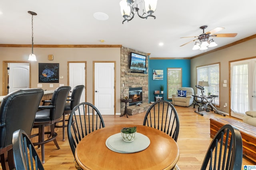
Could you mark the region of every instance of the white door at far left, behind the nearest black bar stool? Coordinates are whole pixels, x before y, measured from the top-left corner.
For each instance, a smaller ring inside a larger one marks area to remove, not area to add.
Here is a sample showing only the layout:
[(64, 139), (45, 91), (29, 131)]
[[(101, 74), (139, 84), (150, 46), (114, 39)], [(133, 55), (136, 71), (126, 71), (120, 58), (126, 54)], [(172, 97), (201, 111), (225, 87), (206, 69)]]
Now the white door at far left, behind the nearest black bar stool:
[(8, 93), (29, 88), (29, 63), (9, 63)]

